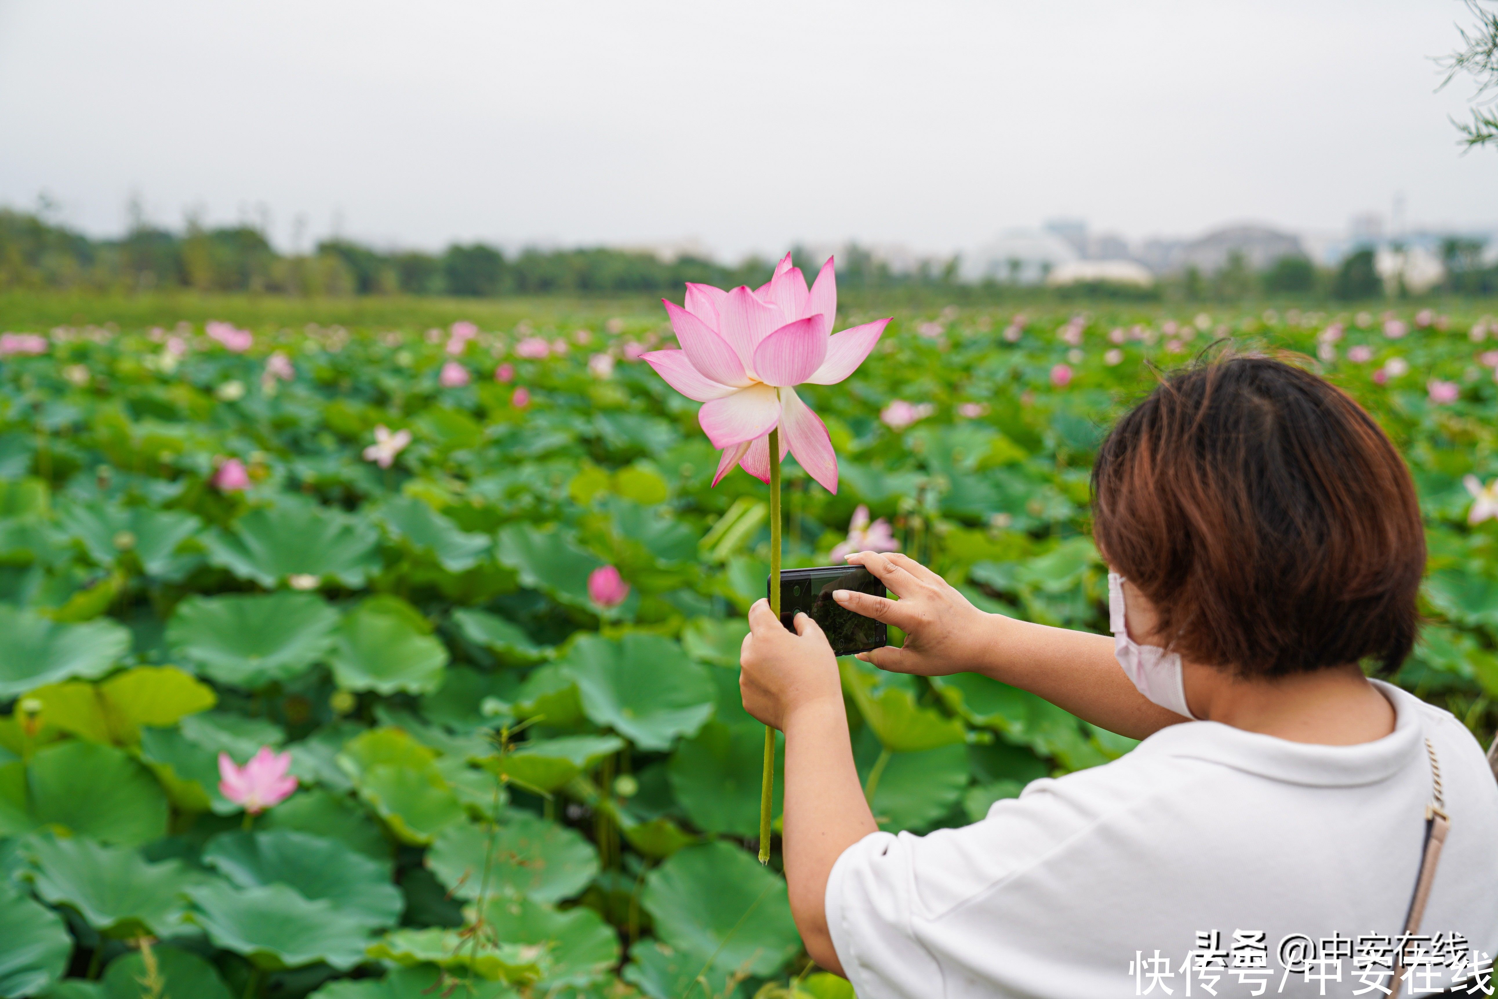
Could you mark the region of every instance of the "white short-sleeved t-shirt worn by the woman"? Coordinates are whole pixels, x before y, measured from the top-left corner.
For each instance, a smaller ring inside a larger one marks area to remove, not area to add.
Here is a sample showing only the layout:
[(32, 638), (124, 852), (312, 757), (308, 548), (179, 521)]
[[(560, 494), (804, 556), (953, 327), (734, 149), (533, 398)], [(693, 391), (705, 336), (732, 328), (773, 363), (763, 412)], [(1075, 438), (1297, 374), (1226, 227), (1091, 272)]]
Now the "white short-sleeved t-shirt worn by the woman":
[[(1431, 800), (1426, 737), (1452, 827), (1422, 933), (1443, 935), (1437, 948), (1461, 933), (1474, 957), (1498, 956), (1498, 783), (1450, 713), (1380, 689), (1398, 720), (1372, 743), (1186, 722), (1104, 767), (1035, 780), (974, 825), (870, 833), (827, 882), (833, 945), (858, 999), (1203, 996), (1212, 977), (1218, 996), (1387, 986), (1387, 974), (1365, 983), (1354, 956), (1359, 936), (1404, 929)], [(1278, 951), (1291, 935), (1309, 938), (1317, 960), (1291, 942), (1285, 980)], [(1182, 969), (1194, 950), (1227, 951), (1230, 971)], [(1233, 968), (1260, 959), (1264, 969)], [(1416, 977), (1404, 996), (1437, 981)]]

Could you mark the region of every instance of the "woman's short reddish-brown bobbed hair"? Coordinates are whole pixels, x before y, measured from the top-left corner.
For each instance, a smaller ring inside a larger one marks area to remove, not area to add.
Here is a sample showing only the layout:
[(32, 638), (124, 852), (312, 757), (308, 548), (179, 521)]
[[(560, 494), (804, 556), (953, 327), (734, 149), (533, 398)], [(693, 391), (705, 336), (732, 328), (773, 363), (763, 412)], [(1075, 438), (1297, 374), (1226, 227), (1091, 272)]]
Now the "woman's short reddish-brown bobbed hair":
[(1414, 484), (1347, 392), (1225, 355), (1162, 379), (1092, 466), (1094, 538), (1191, 662), (1278, 677), (1414, 646)]

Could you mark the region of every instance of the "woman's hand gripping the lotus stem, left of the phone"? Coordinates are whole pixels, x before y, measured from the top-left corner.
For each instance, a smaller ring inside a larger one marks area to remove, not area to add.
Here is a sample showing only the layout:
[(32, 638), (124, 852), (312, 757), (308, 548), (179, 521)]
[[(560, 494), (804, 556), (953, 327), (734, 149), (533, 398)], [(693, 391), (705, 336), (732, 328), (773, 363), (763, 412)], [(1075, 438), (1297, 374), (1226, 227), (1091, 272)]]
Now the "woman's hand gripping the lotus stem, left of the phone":
[(806, 614), (795, 616), (792, 635), (770, 611), (768, 601), (755, 602), (739, 666), (745, 710), (771, 728), (785, 731), (789, 719), (810, 705), (836, 704), (843, 710), (837, 658)]

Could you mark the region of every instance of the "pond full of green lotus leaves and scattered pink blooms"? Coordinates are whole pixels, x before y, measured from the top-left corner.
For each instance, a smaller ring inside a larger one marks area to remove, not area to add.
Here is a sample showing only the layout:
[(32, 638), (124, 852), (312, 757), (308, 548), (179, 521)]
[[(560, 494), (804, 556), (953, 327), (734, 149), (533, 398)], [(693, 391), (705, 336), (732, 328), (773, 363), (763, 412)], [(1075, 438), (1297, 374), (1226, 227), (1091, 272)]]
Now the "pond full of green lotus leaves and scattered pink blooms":
[[(458, 309), (0, 338), (0, 996), (851, 995), (753, 858), (765, 488), (707, 488), (697, 404), (637, 359), (658, 307)], [(1489, 321), (1192, 313), (897, 315), (803, 389), (840, 490), (786, 467), (786, 566), (864, 506), (975, 604), (1104, 631), (1100, 434), (1150, 365), (1291, 347), (1420, 488), (1429, 625), (1398, 681), (1491, 737)], [(1131, 747), (975, 675), (843, 683), (890, 830)], [(258, 753), (289, 795), (222, 780)]]

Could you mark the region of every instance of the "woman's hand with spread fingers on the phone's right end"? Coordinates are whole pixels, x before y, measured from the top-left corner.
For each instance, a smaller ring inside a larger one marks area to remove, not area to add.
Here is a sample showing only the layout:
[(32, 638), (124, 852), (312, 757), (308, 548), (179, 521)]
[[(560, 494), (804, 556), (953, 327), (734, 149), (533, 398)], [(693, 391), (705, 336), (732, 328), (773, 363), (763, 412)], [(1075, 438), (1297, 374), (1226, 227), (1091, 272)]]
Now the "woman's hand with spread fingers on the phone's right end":
[(993, 616), (984, 614), (915, 559), (896, 551), (860, 551), (848, 556), (878, 577), (885, 589), (900, 599), (837, 590), (839, 605), (893, 625), (905, 632), (905, 646), (885, 646), (858, 653), (890, 672), (914, 672), (923, 677), (944, 677), (953, 672), (981, 672), (981, 661), (992, 653)]

